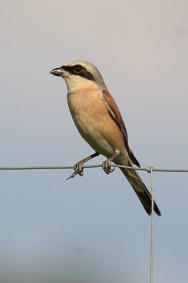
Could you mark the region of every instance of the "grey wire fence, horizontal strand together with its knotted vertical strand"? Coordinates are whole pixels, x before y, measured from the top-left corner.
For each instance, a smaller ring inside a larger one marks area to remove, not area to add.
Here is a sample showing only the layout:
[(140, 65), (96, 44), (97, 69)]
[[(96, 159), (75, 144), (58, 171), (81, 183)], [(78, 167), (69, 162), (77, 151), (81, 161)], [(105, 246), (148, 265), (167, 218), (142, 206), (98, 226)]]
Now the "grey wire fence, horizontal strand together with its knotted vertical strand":
[[(85, 165), (81, 166), (81, 168), (94, 168), (94, 167), (102, 167), (103, 164), (96, 165)], [(151, 166), (147, 166), (146, 168), (138, 168), (138, 167), (130, 167), (123, 165), (116, 165), (111, 163), (111, 166), (125, 168), (130, 170), (142, 170), (147, 171), (151, 175), (151, 196), (152, 196), (152, 222), (151, 222), (151, 259), (150, 259), (150, 283), (153, 280), (153, 235), (154, 235), (154, 196), (153, 196), (153, 171), (161, 171), (161, 172), (188, 172), (188, 169), (156, 169)], [(31, 167), (0, 167), (0, 170), (29, 170), (29, 169), (73, 169), (74, 166), (31, 166)]]

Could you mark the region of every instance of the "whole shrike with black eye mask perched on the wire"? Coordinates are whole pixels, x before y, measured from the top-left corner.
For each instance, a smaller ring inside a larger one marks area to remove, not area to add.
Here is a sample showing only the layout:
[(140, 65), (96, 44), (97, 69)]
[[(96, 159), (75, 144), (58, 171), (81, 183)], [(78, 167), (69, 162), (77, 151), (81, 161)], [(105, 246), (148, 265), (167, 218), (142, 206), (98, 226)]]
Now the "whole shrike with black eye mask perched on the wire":
[[(75, 126), (83, 139), (95, 150), (94, 154), (74, 165), (75, 171), (69, 178), (77, 174), (83, 176), (81, 166), (99, 154), (107, 157), (103, 162), (103, 170), (106, 174), (114, 170), (110, 165), (112, 161), (119, 165), (132, 167), (133, 163), (140, 167), (128, 145), (127, 130), (120, 110), (108, 92), (98, 69), (89, 62), (76, 60), (53, 69), (50, 74), (63, 77), (65, 80), (68, 88), (68, 106)], [(151, 195), (137, 171), (125, 168), (120, 168), (120, 170), (129, 181), (146, 212), (151, 215)], [(161, 215), (155, 201), (154, 211), (157, 215)]]

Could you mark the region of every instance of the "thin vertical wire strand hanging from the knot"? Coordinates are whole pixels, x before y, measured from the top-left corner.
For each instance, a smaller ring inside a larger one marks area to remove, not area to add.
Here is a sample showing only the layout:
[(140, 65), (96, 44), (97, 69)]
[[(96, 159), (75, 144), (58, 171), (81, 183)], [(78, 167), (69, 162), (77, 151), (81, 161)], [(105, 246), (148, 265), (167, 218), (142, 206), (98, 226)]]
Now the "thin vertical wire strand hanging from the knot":
[(150, 283), (152, 283), (153, 280), (153, 228), (154, 228), (153, 167), (151, 167), (151, 195), (152, 195), (152, 225), (151, 225)]

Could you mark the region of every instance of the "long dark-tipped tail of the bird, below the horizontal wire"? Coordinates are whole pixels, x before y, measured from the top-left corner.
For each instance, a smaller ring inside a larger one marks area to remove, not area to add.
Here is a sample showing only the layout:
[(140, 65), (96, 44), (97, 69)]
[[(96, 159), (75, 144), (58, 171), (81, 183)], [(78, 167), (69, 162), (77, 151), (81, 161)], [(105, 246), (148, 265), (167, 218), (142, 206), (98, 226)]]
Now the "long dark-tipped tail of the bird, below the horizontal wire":
[[(128, 162), (126, 166), (133, 166), (131, 162)], [(147, 214), (151, 215), (152, 213), (152, 200), (150, 192), (147, 190), (147, 187), (142, 182), (140, 176), (135, 170), (120, 168), (127, 180), (130, 182), (133, 190), (137, 194), (139, 200), (141, 201)], [(154, 201), (154, 211), (157, 215), (161, 216), (160, 210), (157, 204)]]

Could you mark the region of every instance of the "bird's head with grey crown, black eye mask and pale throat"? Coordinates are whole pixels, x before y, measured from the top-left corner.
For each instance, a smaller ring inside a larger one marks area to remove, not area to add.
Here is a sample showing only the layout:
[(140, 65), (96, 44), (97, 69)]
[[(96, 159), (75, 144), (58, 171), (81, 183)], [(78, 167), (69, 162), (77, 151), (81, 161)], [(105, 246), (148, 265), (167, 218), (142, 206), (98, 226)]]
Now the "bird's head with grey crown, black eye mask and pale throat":
[(63, 77), (69, 93), (91, 88), (107, 90), (98, 69), (87, 61), (76, 60), (68, 62), (60, 68), (53, 69), (50, 74)]

